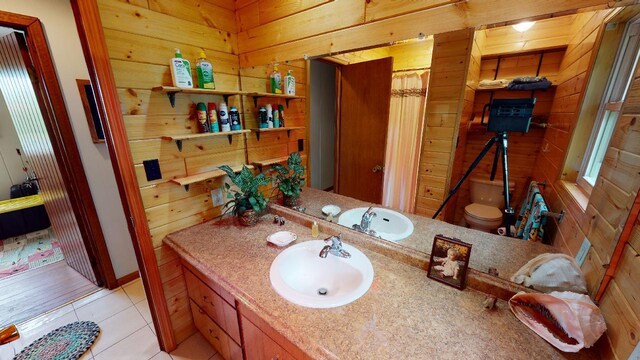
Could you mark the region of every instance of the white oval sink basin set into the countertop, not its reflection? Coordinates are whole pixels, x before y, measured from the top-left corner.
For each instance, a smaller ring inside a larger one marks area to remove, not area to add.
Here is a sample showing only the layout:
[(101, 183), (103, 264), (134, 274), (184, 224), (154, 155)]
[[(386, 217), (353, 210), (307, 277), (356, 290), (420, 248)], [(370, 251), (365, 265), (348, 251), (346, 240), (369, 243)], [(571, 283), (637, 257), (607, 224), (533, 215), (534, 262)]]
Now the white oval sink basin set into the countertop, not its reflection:
[(278, 295), (300, 306), (324, 309), (346, 305), (369, 290), (373, 266), (367, 256), (343, 244), (350, 258), (332, 254), (321, 258), (320, 250), (325, 245), (322, 240), (305, 241), (273, 260), (271, 286)]

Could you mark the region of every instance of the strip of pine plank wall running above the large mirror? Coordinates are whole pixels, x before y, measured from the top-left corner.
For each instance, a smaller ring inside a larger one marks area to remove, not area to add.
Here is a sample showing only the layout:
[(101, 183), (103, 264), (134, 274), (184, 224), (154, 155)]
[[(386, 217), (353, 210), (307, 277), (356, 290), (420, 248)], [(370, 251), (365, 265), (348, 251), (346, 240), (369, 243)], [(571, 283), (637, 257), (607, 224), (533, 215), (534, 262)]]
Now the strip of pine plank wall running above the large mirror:
[(461, 6), (451, 0), (240, 0), (240, 62), (246, 67), (324, 56), (411, 39), (420, 32), (439, 34), (607, 3), (469, 0)]

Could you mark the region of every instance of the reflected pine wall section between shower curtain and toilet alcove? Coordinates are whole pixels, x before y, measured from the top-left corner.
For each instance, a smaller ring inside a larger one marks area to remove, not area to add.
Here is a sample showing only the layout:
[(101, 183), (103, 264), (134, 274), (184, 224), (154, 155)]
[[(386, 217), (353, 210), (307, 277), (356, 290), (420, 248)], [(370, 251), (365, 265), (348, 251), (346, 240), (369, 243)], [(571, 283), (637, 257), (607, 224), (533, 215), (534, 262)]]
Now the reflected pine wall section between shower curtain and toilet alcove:
[(473, 38), (473, 29), (434, 36), (418, 168), (416, 214), (419, 215), (432, 216), (449, 191)]

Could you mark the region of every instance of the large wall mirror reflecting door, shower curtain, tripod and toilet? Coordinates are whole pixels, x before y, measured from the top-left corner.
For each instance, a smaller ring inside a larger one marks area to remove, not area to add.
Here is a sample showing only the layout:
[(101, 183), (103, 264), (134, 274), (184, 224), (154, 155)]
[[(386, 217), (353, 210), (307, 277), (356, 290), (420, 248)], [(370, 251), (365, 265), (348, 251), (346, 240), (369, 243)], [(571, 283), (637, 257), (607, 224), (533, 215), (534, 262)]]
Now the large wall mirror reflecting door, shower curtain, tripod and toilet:
[[(562, 209), (545, 186), (576, 182), (603, 84), (637, 13), (420, 33), (310, 60), (310, 178), (300, 210), (425, 256), (436, 234), (459, 238), (473, 244), (471, 268), (506, 279), (541, 253), (576, 252), (558, 242)], [(507, 105), (511, 115), (528, 111), (526, 129), (515, 115), (487, 126)], [(508, 182), (502, 137), (487, 145), (503, 132)], [(505, 189), (514, 230), (505, 228)], [(533, 201), (538, 192), (544, 207)]]

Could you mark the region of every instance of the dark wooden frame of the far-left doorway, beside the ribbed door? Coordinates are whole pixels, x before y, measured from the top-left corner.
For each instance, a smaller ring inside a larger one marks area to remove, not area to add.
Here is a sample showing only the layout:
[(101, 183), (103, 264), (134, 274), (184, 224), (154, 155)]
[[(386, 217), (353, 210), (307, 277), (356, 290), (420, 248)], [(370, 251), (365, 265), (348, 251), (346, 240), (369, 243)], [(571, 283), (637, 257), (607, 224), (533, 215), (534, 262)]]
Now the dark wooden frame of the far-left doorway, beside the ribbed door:
[(31, 79), (35, 95), (92, 270), (98, 285), (110, 289), (117, 287), (42, 23), (35, 17), (0, 11), (0, 26), (20, 30), (25, 34), (29, 57), (35, 70)]

